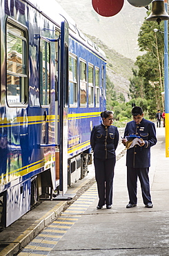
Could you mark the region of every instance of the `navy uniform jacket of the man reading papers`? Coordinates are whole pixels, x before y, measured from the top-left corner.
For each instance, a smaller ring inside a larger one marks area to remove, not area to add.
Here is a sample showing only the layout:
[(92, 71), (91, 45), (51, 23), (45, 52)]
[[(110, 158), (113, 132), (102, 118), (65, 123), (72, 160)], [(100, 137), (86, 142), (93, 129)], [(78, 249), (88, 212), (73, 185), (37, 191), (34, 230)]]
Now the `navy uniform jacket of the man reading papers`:
[(157, 143), (155, 124), (144, 118), (139, 125), (134, 120), (128, 122), (124, 137), (131, 134), (140, 136), (145, 140), (145, 145), (143, 147), (135, 145), (127, 150), (126, 165), (134, 168), (150, 167), (150, 147)]

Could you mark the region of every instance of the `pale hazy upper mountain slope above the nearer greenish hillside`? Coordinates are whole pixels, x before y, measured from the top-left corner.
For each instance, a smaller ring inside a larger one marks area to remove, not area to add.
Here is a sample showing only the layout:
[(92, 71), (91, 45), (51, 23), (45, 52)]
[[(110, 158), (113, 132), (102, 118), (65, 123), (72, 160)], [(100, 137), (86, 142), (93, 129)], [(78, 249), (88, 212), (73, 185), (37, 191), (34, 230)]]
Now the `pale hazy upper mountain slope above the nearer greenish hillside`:
[(92, 0), (57, 0), (83, 33), (99, 38), (124, 57), (136, 60), (139, 52), (137, 35), (146, 17), (146, 8), (124, 1), (121, 11), (113, 17), (102, 17), (92, 8)]

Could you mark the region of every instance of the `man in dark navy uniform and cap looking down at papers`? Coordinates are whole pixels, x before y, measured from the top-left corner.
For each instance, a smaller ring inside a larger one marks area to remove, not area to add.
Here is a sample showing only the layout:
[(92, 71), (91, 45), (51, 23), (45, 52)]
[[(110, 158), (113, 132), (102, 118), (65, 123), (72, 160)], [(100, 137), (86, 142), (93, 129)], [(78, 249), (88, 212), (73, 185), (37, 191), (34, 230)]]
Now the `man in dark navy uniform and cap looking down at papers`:
[(141, 142), (127, 150), (127, 185), (129, 203), (126, 208), (137, 206), (137, 177), (141, 183), (143, 203), (146, 208), (152, 208), (149, 183), (150, 147), (157, 143), (155, 124), (143, 118), (141, 107), (132, 108), (133, 120), (128, 122), (124, 131), (122, 143), (126, 145), (126, 136), (140, 136)]

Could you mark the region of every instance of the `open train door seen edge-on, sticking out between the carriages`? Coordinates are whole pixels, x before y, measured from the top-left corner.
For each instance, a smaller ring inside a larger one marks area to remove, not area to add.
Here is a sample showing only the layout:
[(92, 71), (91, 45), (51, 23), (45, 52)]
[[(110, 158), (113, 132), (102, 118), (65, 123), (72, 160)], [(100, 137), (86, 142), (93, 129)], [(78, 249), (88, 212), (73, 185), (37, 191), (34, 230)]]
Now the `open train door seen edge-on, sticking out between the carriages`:
[(59, 82), (59, 190), (68, 189), (68, 24), (61, 23), (61, 66)]

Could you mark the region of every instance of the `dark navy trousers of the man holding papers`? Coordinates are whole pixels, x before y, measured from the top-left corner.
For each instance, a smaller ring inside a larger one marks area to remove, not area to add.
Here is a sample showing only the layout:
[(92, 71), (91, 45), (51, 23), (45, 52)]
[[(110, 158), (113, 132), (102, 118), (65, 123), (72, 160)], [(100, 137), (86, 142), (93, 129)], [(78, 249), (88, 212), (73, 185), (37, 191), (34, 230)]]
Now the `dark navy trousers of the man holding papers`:
[(150, 183), (148, 177), (149, 167), (145, 168), (132, 168), (127, 167), (127, 185), (129, 203), (137, 204), (137, 177), (141, 184), (141, 192), (143, 197), (143, 203), (146, 205), (152, 203), (150, 195)]

